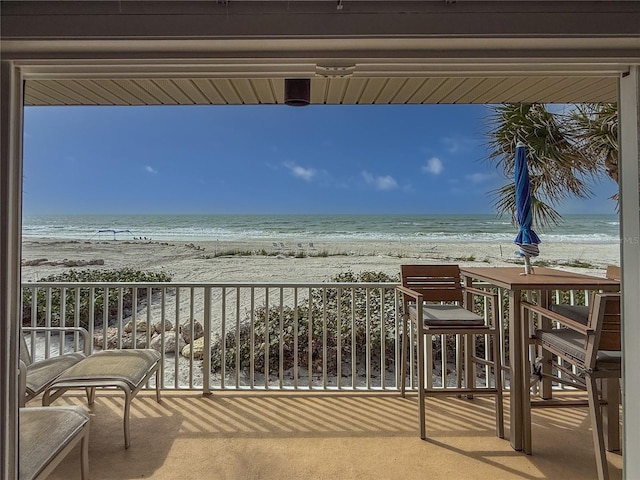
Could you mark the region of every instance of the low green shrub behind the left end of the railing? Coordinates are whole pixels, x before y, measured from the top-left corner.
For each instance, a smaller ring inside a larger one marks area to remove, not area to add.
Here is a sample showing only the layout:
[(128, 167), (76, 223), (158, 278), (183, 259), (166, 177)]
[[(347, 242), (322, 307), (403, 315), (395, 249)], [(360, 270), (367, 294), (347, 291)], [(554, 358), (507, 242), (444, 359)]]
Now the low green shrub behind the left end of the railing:
[[(64, 282), (64, 283), (78, 283), (85, 284), (88, 282), (170, 282), (171, 276), (165, 272), (142, 272), (139, 270), (133, 270), (131, 268), (121, 268), (117, 270), (69, 270), (61, 274), (49, 275), (41, 278), (38, 282)], [(137, 289), (137, 300), (141, 302), (147, 297), (147, 288)], [(47, 315), (47, 292), (44, 288), (37, 289), (37, 302), (36, 302), (36, 324), (42, 326), (45, 324)], [(75, 319), (76, 309), (76, 292), (79, 294), (79, 316), (80, 326), (87, 328), (89, 321), (89, 288), (67, 288), (65, 292), (65, 318), (61, 322), (61, 288), (51, 289), (51, 325), (60, 326), (61, 323), (65, 326), (72, 326)], [(153, 292), (152, 292), (153, 293)], [(94, 318), (96, 325), (103, 322), (104, 302), (105, 302), (105, 289), (95, 288), (94, 294)], [(33, 289), (23, 289), (22, 294), (22, 323), (23, 325), (31, 325), (32, 316), (32, 299)], [(133, 288), (125, 288), (123, 290), (123, 309), (125, 315), (127, 312), (131, 312), (133, 307)], [(108, 319), (115, 318), (118, 311), (118, 290), (109, 289), (109, 298), (107, 305)]]

